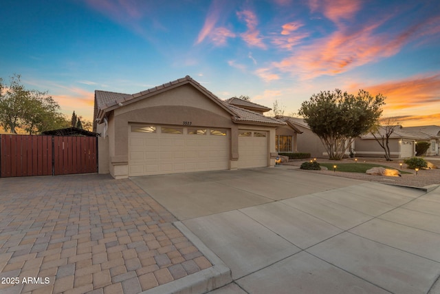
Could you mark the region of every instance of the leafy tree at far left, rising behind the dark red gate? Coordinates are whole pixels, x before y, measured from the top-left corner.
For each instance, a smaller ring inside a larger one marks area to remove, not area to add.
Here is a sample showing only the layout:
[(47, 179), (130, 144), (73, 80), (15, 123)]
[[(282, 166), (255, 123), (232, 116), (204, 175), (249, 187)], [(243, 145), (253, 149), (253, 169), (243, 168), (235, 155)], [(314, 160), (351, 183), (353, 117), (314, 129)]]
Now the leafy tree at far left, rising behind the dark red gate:
[(21, 84), (21, 76), (14, 74), (8, 87), (0, 81), (0, 124), (12, 134), (17, 134), (17, 129), (36, 134), (68, 123), (58, 103), (47, 92), (27, 90)]

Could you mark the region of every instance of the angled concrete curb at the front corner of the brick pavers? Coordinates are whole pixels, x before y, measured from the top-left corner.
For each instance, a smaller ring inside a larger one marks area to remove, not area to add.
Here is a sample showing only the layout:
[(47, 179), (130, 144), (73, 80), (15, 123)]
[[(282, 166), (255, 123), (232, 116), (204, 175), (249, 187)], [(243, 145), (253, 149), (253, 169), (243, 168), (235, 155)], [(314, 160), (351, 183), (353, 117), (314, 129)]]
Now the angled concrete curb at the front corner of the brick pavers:
[(181, 233), (183, 233), (194, 246), (211, 262), (212, 267), (181, 277), (178, 280), (162, 284), (140, 294), (197, 294), (206, 293), (216, 288), (220, 288), (232, 282), (231, 270), (215, 253), (210, 251), (201, 240), (190, 231), (182, 222), (173, 223)]

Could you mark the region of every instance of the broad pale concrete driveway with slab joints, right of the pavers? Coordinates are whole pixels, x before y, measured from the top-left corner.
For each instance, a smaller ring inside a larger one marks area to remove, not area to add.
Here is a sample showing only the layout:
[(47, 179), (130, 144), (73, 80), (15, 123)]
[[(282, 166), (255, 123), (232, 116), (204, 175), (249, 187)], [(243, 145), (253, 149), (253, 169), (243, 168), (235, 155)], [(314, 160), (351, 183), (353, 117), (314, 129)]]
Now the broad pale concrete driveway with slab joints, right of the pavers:
[(212, 293), (440, 293), (440, 188), (289, 167), (131, 180), (231, 269)]

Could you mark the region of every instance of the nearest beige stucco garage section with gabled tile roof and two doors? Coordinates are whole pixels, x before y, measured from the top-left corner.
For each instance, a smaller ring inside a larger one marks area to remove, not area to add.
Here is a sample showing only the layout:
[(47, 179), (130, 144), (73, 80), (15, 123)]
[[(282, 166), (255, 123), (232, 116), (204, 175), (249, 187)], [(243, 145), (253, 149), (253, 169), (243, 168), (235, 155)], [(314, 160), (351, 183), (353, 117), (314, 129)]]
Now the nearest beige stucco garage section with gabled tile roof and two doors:
[(272, 167), (284, 125), (221, 101), (190, 76), (136, 94), (95, 91), (99, 173), (114, 178)]

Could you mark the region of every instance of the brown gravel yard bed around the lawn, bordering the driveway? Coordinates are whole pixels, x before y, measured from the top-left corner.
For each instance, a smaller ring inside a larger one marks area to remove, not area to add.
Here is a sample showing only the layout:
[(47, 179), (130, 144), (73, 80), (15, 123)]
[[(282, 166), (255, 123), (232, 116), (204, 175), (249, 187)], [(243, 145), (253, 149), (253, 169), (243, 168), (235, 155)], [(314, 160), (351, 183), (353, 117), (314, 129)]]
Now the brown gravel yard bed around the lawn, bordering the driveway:
[[(290, 160), (288, 163), (283, 163), (283, 165), (294, 165), (300, 166), (301, 163), (307, 160)], [(347, 158), (344, 160), (328, 160), (325, 158), (318, 158), (316, 161), (318, 162), (332, 162), (336, 163), (344, 163), (344, 162), (354, 162), (353, 158)], [(299, 171), (304, 172), (312, 172), (318, 174), (327, 174), (330, 176), (341, 176), (344, 178), (354, 178), (357, 180), (369, 180), (373, 182), (386, 182), (388, 184), (395, 185), (403, 185), (408, 187), (426, 187), (429, 185), (440, 185), (440, 156), (434, 156), (427, 159), (428, 162), (432, 162), (436, 165), (437, 169), (424, 169), (419, 170), (417, 175), (415, 174), (414, 169), (408, 169), (404, 164), (402, 167), (403, 171), (410, 172), (411, 174), (401, 174), (401, 177), (391, 177), (391, 176), (371, 176), (367, 174), (360, 173), (348, 173), (342, 171), (306, 171), (304, 169), (298, 169)], [(367, 162), (367, 163), (375, 163), (377, 165), (385, 165), (387, 167), (392, 167), (395, 169), (400, 169), (399, 160), (386, 161), (382, 158), (358, 158), (358, 162)], [(400, 161), (401, 162), (401, 161)]]

